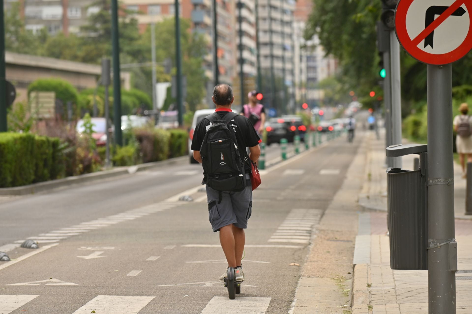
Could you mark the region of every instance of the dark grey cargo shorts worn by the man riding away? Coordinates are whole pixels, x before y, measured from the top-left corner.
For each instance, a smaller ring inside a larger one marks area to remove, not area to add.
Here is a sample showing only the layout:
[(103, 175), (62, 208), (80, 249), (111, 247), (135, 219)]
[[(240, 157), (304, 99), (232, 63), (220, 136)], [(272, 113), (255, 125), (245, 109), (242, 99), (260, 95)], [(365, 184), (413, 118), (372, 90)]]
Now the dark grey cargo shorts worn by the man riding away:
[(253, 207), (253, 189), (250, 182), (240, 192), (221, 192), (221, 203), (219, 204), (219, 192), (208, 186), (206, 190), (208, 218), (213, 232), (230, 224), (241, 229), (247, 228), (247, 221), (251, 217)]

